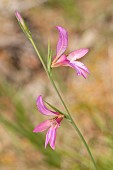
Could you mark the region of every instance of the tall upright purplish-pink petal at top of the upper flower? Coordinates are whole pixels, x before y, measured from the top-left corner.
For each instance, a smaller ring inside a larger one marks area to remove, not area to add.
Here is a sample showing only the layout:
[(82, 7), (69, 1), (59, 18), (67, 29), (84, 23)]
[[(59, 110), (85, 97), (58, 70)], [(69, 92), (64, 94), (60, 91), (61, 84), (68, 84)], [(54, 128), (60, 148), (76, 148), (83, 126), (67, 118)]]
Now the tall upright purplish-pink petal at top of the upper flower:
[(67, 31), (60, 27), (56, 27), (59, 31), (59, 40), (57, 43), (57, 52), (56, 52), (56, 57), (60, 57), (66, 50), (68, 46), (68, 33)]

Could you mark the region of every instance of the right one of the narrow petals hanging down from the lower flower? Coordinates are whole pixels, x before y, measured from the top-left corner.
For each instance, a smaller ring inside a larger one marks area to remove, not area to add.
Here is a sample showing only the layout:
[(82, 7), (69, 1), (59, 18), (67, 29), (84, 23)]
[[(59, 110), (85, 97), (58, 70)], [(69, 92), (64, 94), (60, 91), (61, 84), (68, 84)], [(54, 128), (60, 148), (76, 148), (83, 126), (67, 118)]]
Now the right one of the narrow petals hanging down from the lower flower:
[(52, 149), (55, 149), (55, 140), (56, 140), (56, 130), (58, 128), (58, 125), (54, 126), (51, 130), (51, 135), (49, 139), (49, 144)]

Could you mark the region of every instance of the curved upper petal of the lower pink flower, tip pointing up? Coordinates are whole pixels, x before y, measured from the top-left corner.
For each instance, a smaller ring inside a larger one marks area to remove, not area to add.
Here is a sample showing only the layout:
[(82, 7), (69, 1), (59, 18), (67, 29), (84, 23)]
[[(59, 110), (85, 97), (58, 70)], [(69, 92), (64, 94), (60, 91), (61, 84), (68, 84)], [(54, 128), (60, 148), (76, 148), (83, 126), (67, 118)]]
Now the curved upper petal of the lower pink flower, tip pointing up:
[(44, 102), (43, 102), (43, 99), (42, 99), (42, 96), (40, 95), (38, 98), (37, 98), (37, 101), (36, 101), (36, 104), (37, 104), (37, 107), (38, 107), (38, 110), (40, 113), (44, 114), (44, 115), (58, 115), (57, 112), (54, 112), (54, 111), (51, 111), (49, 110), (45, 105), (44, 105)]

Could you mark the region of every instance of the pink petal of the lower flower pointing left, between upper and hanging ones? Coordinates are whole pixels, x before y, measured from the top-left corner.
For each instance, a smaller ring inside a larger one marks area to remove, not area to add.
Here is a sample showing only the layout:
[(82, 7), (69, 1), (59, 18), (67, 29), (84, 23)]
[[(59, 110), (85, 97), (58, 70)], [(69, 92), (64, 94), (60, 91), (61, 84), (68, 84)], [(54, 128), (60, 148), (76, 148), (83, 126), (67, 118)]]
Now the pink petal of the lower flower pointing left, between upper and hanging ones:
[(51, 126), (51, 121), (46, 120), (35, 127), (33, 132), (43, 132)]

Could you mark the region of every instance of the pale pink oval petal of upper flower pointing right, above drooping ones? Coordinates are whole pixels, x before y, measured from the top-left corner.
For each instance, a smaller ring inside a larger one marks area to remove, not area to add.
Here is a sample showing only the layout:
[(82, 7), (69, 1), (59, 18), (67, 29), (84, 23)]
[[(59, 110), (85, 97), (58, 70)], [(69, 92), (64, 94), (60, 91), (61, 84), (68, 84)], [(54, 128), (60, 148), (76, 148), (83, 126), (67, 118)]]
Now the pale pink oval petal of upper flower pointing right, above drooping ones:
[(88, 49), (87, 48), (81, 48), (79, 50), (75, 50), (73, 52), (71, 52), (67, 58), (70, 60), (70, 61), (74, 61), (76, 59), (79, 59), (81, 57), (83, 57), (85, 54), (88, 53)]

